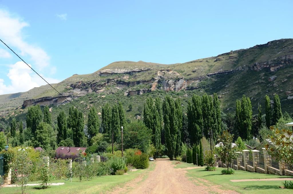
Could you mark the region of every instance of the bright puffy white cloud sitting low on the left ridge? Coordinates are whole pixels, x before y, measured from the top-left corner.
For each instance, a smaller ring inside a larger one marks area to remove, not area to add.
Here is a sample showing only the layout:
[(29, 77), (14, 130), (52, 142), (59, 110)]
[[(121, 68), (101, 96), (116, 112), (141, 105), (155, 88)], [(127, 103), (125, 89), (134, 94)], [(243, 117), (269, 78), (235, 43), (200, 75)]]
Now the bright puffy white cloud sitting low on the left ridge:
[[(30, 64), (29, 64), (30, 65)], [(8, 78), (11, 80), (10, 85), (5, 85), (4, 80), (0, 79), (0, 95), (8, 93), (17, 93), (28, 91), (34, 87), (40, 87), (47, 83), (33, 72), (24, 62), (17, 62), (10, 66)], [(43, 76), (43, 75), (41, 75)], [(58, 83), (59, 80), (44, 77), (50, 84)]]

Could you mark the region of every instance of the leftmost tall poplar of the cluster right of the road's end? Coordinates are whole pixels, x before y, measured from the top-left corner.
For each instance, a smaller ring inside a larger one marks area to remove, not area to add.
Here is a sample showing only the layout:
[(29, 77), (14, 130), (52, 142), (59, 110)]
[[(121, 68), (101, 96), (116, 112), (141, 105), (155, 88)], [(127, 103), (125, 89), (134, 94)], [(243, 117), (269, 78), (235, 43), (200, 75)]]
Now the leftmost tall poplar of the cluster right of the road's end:
[(187, 116), (188, 116), (188, 132), (190, 135), (190, 144), (199, 144), (202, 138), (202, 109), (201, 98), (198, 95), (192, 96), (192, 101), (188, 102)]

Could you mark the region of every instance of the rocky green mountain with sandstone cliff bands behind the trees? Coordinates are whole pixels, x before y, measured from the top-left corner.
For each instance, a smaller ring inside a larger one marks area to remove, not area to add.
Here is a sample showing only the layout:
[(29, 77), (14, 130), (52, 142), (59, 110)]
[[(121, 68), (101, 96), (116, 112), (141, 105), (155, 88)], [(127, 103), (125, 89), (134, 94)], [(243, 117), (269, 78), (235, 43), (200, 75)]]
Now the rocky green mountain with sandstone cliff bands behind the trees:
[[(243, 94), (251, 98), (256, 113), (266, 94), (272, 99), (277, 93), (282, 110), (292, 113), (292, 72), (293, 39), (280, 39), (185, 63), (113, 62), (92, 74), (75, 74), (54, 87), (85, 111), (94, 105), (101, 112), (105, 102), (121, 101), (125, 109), (132, 104), (136, 108), (127, 112), (129, 118), (139, 114), (146, 96), (163, 98), (166, 93), (181, 97), (186, 107), (193, 93), (216, 92), (222, 110), (231, 113)], [(5, 118), (13, 114), (24, 117), (26, 108), (34, 104), (52, 106), (53, 115), (69, 108), (67, 101), (47, 85), (1, 95), (0, 100), (0, 116)]]

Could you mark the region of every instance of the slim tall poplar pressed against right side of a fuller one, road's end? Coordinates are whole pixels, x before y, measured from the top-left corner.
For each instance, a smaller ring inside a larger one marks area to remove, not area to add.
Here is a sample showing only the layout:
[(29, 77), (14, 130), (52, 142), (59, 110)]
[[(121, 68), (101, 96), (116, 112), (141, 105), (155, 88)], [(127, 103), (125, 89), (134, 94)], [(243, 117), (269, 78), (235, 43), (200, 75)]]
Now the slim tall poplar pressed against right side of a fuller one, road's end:
[(177, 125), (177, 140), (176, 140), (176, 149), (175, 149), (175, 157), (179, 156), (181, 149), (181, 130), (182, 130), (182, 106), (180, 98), (175, 100), (175, 108), (176, 108), (176, 125)]

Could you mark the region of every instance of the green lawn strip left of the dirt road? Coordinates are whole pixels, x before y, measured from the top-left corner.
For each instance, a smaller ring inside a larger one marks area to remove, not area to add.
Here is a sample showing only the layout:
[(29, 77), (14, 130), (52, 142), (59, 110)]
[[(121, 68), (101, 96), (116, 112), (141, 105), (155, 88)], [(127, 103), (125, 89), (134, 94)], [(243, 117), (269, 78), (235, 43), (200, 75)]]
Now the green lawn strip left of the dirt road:
[[(72, 182), (64, 180), (55, 180), (54, 183), (65, 182), (64, 185), (50, 186), (47, 189), (37, 189), (38, 186), (27, 186), (25, 193), (105, 193), (113, 190), (117, 186), (124, 186), (128, 181), (137, 178), (139, 175), (154, 170), (155, 163), (150, 162), (148, 169), (138, 169), (135, 172), (127, 172), (128, 175), (111, 175), (95, 177), (89, 181), (83, 179), (79, 182), (78, 178), (72, 178)], [(143, 178), (147, 175), (142, 175)], [(37, 182), (30, 182), (37, 183)], [(21, 193), (20, 187), (2, 188), (1, 194), (4, 193)]]

